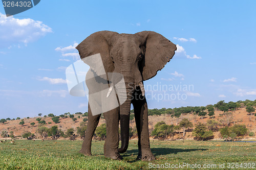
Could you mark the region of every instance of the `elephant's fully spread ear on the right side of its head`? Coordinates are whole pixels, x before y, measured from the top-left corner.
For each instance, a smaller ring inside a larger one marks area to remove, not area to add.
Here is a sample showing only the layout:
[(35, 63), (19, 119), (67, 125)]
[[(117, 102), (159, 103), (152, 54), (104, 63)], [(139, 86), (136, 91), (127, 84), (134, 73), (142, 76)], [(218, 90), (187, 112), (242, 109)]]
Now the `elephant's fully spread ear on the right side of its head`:
[(143, 80), (156, 76), (157, 71), (173, 58), (177, 47), (161, 34), (153, 31), (142, 31), (135, 34), (142, 40), (144, 58), (140, 62)]

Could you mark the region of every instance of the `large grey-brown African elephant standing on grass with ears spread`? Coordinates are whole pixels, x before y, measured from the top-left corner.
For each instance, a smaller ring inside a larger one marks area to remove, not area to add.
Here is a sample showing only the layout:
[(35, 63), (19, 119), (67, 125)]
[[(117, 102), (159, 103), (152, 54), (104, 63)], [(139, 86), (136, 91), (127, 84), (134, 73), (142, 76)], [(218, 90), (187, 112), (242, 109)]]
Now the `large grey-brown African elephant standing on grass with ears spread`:
[[(106, 140), (104, 143), (104, 156), (121, 160), (120, 153), (126, 152), (129, 145), (129, 124), (131, 104), (134, 107), (135, 122), (138, 132), (137, 160), (151, 161), (156, 159), (151, 152), (148, 132), (147, 102), (143, 81), (156, 76), (170, 59), (173, 58), (177, 47), (161, 34), (153, 31), (142, 31), (136, 34), (119, 34), (112, 31), (99, 31), (91, 34), (77, 45), (80, 58), (100, 54), (105, 75), (98, 74), (97, 61), (91, 61), (90, 71), (87, 73), (86, 84), (90, 94), (100, 91), (100, 84), (107, 85), (109, 97), (116, 91), (118, 106), (103, 112), (106, 122)], [(109, 73), (122, 75), (109, 76)], [(91, 76), (90, 76), (91, 75)], [(94, 80), (92, 78), (94, 75)], [(96, 76), (95, 76), (96, 75)], [(124, 86), (118, 85), (120, 79)], [(102, 83), (105, 82), (105, 83)], [(105, 88), (105, 87), (104, 87)], [(138, 97), (139, 96), (139, 97)], [(122, 103), (120, 102), (122, 101)], [(100, 114), (93, 115), (88, 105), (88, 125), (86, 134), (79, 151), (83, 155), (91, 154), (91, 142), (95, 129), (99, 123)], [(119, 147), (119, 120), (121, 128), (121, 147)]]

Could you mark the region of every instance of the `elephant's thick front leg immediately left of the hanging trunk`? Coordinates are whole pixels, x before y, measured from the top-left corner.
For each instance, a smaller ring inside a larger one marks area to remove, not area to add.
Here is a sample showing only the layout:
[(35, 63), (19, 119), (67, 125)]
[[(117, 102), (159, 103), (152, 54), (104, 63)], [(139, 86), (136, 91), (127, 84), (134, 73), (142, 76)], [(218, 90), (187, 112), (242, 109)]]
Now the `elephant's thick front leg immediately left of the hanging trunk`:
[(104, 144), (104, 156), (111, 159), (121, 160), (123, 158), (118, 152), (119, 108), (115, 108), (103, 114), (106, 120), (106, 140)]

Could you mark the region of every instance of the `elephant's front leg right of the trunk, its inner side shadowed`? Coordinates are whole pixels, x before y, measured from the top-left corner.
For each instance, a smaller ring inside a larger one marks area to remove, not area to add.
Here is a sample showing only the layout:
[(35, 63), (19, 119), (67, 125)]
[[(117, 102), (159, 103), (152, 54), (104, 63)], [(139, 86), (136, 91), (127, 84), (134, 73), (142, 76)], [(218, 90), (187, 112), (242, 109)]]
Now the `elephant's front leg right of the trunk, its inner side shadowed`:
[(152, 161), (155, 160), (155, 156), (150, 149), (150, 138), (148, 133), (148, 115), (147, 115), (147, 103), (146, 100), (133, 101), (134, 114), (136, 121), (136, 128), (138, 132), (138, 148), (139, 154), (137, 160)]

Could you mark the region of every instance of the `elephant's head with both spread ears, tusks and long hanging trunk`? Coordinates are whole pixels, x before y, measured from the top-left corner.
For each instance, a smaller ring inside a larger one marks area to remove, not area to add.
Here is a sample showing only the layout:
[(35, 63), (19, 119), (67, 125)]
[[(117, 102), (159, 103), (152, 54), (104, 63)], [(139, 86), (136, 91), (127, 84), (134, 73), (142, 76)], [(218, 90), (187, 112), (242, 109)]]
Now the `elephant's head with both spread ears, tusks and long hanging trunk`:
[[(76, 48), (81, 59), (100, 53), (105, 72), (118, 73), (116, 75), (123, 76), (125, 87), (118, 85), (120, 78), (106, 77), (112, 84), (109, 93), (115, 87), (117, 93), (122, 94), (118, 95), (119, 101), (122, 98), (125, 99), (120, 106), (122, 145), (119, 152), (123, 153), (127, 150), (129, 142), (133, 92), (139, 86), (144, 95), (143, 81), (156, 76), (157, 71), (172, 59), (177, 49), (176, 45), (152, 31), (136, 34), (100, 31), (87, 37)], [(95, 72), (97, 74), (97, 70)]]

